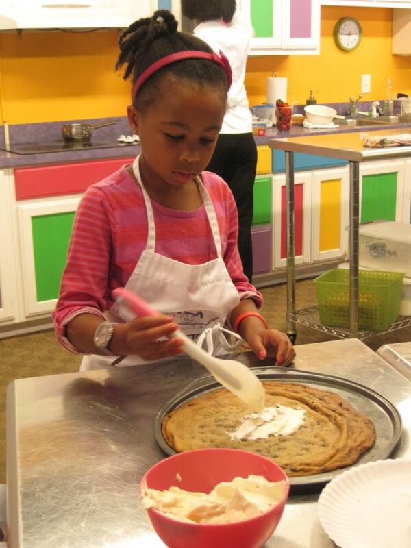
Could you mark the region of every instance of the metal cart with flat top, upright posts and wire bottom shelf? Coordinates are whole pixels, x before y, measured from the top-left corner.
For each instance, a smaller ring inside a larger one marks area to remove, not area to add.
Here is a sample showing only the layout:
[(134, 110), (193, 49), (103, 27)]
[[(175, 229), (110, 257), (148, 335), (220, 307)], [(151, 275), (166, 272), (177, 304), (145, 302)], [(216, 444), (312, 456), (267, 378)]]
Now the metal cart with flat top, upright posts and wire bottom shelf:
[[(374, 130), (367, 134), (390, 136), (398, 134), (397, 130)], [(411, 146), (389, 148), (364, 147), (362, 139), (364, 132), (332, 135), (318, 135), (271, 139), (269, 147), (286, 153), (286, 228), (287, 228), (287, 334), (295, 342), (296, 323), (312, 329), (334, 335), (339, 338), (368, 338), (372, 331), (360, 331), (358, 328), (358, 230), (360, 224), (360, 162), (382, 160), (388, 158), (403, 158), (411, 156)], [(295, 310), (295, 245), (294, 245), (294, 153), (306, 153), (329, 158), (339, 158), (349, 162), (349, 329), (322, 325), (319, 319), (318, 307), (312, 306), (303, 310)], [(411, 184), (411, 182), (410, 182)], [(411, 325), (411, 317), (402, 317), (386, 332), (402, 329)], [(380, 332), (379, 332), (380, 333)]]

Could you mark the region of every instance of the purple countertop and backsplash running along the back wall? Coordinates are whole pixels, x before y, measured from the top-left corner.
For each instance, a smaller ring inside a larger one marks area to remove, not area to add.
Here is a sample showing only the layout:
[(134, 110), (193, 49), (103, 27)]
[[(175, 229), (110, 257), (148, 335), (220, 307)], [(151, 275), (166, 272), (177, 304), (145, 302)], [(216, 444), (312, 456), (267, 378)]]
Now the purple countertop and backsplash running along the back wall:
[[(329, 103), (329, 106), (336, 108), (340, 114), (347, 113), (348, 103)], [(360, 110), (369, 110), (371, 107), (371, 101), (358, 103)], [(294, 112), (303, 112), (303, 105), (295, 107)], [(129, 122), (124, 116), (123, 118), (104, 118), (104, 119), (91, 119), (81, 120), (81, 123), (90, 123), (91, 125), (97, 123), (103, 123), (105, 121), (118, 120), (115, 125), (108, 127), (101, 127), (95, 129), (93, 136), (96, 140), (112, 140), (113, 144), (116, 139), (121, 135), (132, 134)], [(34, 123), (34, 124), (18, 124), (10, 125), (9, 137), (10, 142), (42, 142), (42, 141), (58, 141), (62, 140), (61, 127), (64, 123), (75, 122), (61, 121), (61, 122), (48, 122), (48, 123)], [(265, 136), (255, 137), (257, 145), (266, 145), (270, 139), (273, 138), (287, 138), (287, 137), (299, 137), (310, 135), (332, 135), (336, 133), (358, 133), (369, 131), (383, 130), (383, 129), (410, 129), (411, 123), (397, 123), (397, 124), (384, 124), (381, 126), (362, 126), (362, 127), (348, 127), (347, 125), (339, 125), (337, 129), (306, 129), (303, 126), (292, 126), (290, 132), (278, 132), (275, 127), (269, 129)], [(0, 143), (3, 145), (4, 131), (3, 126), (0, 126)], [(14, 154), (0, 150), (0, 169), (18, 168), (24, 166), (38, 166), (49, 164), (66, 164), (71, 162), (87, 162), (92, 160), (107, 160), (109, 158), (130, 158), (136, 156), (140, 152), (140, 146), (113, 146), (109, 148), (100, 149), (87, 149), (84, 151), (62, 151), (52, 153), (41, 154)]]

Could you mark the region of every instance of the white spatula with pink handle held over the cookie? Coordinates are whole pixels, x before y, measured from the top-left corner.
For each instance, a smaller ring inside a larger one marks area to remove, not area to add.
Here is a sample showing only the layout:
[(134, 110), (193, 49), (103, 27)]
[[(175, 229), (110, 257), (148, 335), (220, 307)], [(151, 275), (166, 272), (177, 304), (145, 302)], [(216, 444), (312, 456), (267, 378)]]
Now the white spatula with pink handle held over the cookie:
[[(114, 299), (124, 300), (129, 309), (138, 316), (158, 316), (158, 312), (152, 310), (141, 297), (132, 291), (117, 288), (114, 289), (112, 295)], [(173, 333), (172, 336), (184, 340), (184, 351), (206, 367), (216, 380), (247, 403), (253, 411), (261, 412), (264, 409), (265, 392), (262, 382), (245, 364), (236, 360), (221, 360), (210, 356), (180, 330)]]

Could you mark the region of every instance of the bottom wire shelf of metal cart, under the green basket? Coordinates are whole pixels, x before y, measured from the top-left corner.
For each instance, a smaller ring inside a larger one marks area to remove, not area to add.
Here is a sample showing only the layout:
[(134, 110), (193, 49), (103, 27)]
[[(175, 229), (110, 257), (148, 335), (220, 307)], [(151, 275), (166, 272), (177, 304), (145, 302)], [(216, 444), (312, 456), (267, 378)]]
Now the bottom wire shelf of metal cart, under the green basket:
[(383, 333), (389, 333), (391, 331), (397, 331), (397, 329), (403, 329), (403, 327), (411, 326), (411, 316), (400, 316), (397, 321), (392, 323), (388, 329), (384, 331), (359, 331), (357, 333), (351, 333), (349, 329), (344, 327), (331, 327), (329, 325), (323, 325), (320, 321), (319, 308), (318, 306), (309, 306), (308, 308), (301, 308), (301, 310), (296, 310), (293, 314), (290, 315), (290, 319), (309, 327), (310, 329), (315, 329), (316, 331), (321, 331), (332, 335), (338, 338), (358, 338), (364, 340), (366, 338), (371, 338), (375, 335), (381, 335)]

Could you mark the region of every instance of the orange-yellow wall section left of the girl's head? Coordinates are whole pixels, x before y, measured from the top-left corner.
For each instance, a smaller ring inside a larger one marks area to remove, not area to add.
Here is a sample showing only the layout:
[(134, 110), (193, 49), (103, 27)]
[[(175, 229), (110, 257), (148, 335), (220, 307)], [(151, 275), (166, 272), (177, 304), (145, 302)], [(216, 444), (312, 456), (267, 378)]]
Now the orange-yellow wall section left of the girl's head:
[(115, 31), (0, 34), (3, 121), (125, 116), (129, 84), (114, 70), (118, 51)]

